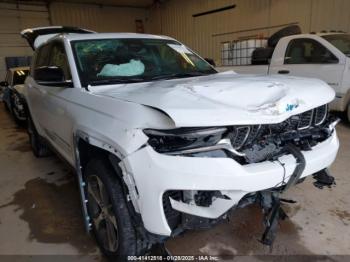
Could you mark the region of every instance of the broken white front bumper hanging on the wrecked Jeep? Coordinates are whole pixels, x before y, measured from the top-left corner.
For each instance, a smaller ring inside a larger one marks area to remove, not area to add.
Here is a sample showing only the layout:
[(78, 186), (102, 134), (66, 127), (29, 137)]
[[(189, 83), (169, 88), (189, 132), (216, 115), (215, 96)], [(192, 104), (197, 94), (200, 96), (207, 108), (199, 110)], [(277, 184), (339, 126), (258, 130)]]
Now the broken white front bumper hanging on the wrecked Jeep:
[[(305, 170), (300, 178), (330, 166), (337, 155), (339, 140), (334, 133), (311, 151), (303, 151)], [(241, 165), (231, 158), (169, 156), (155, 152), (150, 146), (126, 157), (122, 164), (133, 176), (139, 198), (138, 208), (144, 227), (151, 233), (170, 236), (171, 229), (163, 211), (162, 196), (168, 190), (216, 190), (230, 200), (213, 202), (209, 207), (189, 205), (171, 200), (172, 207), (191, 215), (217, 218), (251, 192), (281, 186), (296, 167), (292, 155), (277, 161)], [(284, 164), (284, 167), (281, 165)], [(223, 199), (222, 199), (223, 200)]]

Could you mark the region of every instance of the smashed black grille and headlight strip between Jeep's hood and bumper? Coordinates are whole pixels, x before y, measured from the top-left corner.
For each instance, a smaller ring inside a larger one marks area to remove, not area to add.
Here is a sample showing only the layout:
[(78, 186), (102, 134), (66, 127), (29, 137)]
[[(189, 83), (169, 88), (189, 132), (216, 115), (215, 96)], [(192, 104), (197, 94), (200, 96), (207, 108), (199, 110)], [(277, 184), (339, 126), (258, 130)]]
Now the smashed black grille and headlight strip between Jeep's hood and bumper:
[(328, 106), (294, 115), (278, 124), (212, 128), (145, 129), (157, 152), (189, 157), (228, 157), (240, 164), (276, 160), (287, 144), (308, 151), (329, 138), (338, 120)]

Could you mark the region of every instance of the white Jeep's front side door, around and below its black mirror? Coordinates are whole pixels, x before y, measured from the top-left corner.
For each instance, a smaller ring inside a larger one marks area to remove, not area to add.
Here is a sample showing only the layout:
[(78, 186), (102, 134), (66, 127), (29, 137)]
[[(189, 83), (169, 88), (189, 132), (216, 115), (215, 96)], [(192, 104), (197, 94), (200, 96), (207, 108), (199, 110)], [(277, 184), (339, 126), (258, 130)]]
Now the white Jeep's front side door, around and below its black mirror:
[[(40, 58), (40, 50), (38, 56)], [(72, 76), (63, 42), (57, 40), (50, 43), (45, 63), (36, 63), (36, 67), (43, 66), (43, 64), (61, 68), (64, 72), (65, 82), (71, 83)], [(67, 98), (70, 97), (74, 88), (68, 84), (67, 86), (40, 85), (35, 81), (34, 72), (32, 89), (35, 97), (31, 97), (31, 108), (34, 108), (34, 115), (39, 117), (38, 123), (42, 134), (70, 162), (73, 159), (73, 132), (72, 119), (67, 112), (67, 103), (69, 103)], [(34, 101), (37, 101), (37, 105), (33, 104)]]

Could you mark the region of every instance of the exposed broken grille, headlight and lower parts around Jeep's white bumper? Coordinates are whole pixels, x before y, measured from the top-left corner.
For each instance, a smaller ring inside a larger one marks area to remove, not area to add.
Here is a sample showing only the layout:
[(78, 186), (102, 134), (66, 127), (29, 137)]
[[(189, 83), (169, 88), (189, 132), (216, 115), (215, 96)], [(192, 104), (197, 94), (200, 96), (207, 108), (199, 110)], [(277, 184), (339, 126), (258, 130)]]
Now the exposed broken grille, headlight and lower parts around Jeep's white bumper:
[[(279, 159), (285, 155), (293, 156), (296, 162), (293, 172), (283, 176), (273, 188), (251, 192), (243, 198), (242, 195), (224, 190), (166, 191), (162, 204), (173, 234), (186, 229), (209, 228), (227, 218), (230, 210), (258, 203), (265, 214), (262, 243), (271, 245), (278, 220), (286, 217), (280, 205), (284, 201), (280, 195), (303, 180), (306, 160), (302, 151), (312, 151), (316, 145), (330, 138), (338, 121), (328, 113), (328, 106), (323, 105), (278, 124), (145, 129), (144, 133), (149, 137), (148, 144), (161, 154), (231, 158), (242, 166), (267, 161), (276, 162), (284, 168)], [(323, 181), (327, 178), (327, 181), (332, 180), (327, 171), (318, 173), (322, 173)], [(233, 202), (237, 204), (232, 208)]]

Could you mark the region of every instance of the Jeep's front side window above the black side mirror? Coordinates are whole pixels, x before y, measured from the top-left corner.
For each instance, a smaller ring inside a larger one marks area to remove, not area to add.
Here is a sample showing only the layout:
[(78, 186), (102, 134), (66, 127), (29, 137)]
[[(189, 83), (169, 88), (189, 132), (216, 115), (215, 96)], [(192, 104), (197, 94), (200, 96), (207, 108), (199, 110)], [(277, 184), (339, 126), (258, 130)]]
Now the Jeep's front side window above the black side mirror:
[(50, 52), (49, 66), (57, 66), (61, 68), (64, 72), (65, 80), (72, 79), (63, 43), (61, 42), (53, 43), (51, 52)]

